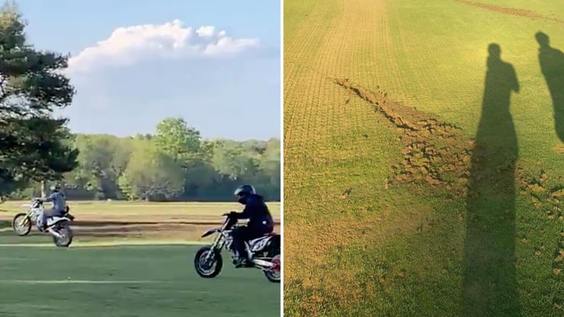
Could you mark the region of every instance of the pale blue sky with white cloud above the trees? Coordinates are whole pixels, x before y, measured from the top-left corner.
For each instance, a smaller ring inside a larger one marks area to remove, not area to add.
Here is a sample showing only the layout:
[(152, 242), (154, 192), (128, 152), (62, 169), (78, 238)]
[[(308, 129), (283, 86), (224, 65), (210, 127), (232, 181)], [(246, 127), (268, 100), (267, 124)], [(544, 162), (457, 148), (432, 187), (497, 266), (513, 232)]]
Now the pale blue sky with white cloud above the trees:
[(32, 44), (73, 56), (73, 132), (150, 133), (181, 116), (205, 138), (280, 137), (279, 1), (17, 3)]

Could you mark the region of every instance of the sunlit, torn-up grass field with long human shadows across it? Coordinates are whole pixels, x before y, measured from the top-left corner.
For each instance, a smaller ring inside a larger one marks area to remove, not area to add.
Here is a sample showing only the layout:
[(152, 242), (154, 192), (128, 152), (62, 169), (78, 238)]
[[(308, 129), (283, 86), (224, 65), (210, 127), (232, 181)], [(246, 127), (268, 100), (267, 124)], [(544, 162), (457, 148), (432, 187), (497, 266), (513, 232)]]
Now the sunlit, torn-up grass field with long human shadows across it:
[(564, 316), (563, 12), (284, 1), (288, 316)]

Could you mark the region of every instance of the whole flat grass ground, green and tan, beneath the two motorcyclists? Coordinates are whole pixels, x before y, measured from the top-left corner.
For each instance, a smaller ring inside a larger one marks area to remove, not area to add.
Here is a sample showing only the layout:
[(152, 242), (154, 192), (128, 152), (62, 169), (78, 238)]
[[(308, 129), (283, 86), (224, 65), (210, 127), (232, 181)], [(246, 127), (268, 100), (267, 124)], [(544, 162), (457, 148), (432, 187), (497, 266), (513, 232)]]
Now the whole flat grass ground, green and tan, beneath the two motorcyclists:
[[(75, 240), (57, 249), (35, 228), (27, 237), (12, 232), (11, 218), (27, 203), (0, 205), (0, 316), (279, 314), (280, 285), (233, 268), (226, 252), (219, 277), (195, 273), (194, 243), (237, 204), (71, 201)], [(280, 204), (269, 207), (279, 219)]]

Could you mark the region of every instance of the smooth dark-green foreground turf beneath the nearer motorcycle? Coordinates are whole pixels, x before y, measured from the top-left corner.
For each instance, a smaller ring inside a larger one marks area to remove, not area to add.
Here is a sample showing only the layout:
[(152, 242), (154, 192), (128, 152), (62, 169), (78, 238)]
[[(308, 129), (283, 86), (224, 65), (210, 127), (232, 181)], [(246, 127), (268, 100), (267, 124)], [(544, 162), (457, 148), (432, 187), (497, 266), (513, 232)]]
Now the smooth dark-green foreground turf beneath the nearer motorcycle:
[(278, 316), (280, 285), (258, 270), (203, 279), (195, 246), (0, 247), (0, 316)]

